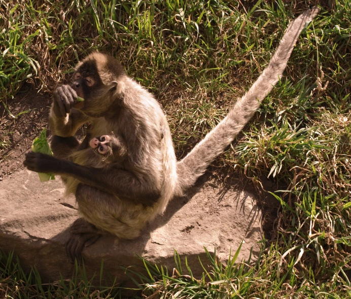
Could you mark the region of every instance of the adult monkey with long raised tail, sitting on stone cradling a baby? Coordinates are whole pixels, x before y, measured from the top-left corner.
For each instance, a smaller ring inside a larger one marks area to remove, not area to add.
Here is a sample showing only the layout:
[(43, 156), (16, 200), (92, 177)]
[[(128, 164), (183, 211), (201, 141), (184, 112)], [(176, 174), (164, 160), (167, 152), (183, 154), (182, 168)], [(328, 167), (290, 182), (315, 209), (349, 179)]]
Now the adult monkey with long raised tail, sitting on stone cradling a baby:
[[(318, 11), (317, 7), (307, 10), (289, 25), (254, 85), (180, 162), (159, 103), (126, 76), (117, 60), (92, 53), (77, 65), (74, 83), (54, 92), (50, 111), (54, 157), (30, 152), (24, 161), (29, 170), (60, 174), (68, 184), (73, 179), (79, 182), (73, 192), (82, 218), (74, 223), (66, 245), (71, 261), (81, 260), (83, 246), (103, 233), (137, 237), (148, 221), (163, 213), (169, 200), (182, 195), (204, 173), (282, 76), (301, 30)], [(79, 109), (74, 108), (77, 96), (85, 99)], [(92, 137), (114, 133), (123, 138), (127, 156), (119, 167), (82, 166), (69, 158), (88, 146), (88, 139), (80, 144), (74, 137), (88, 121)]]

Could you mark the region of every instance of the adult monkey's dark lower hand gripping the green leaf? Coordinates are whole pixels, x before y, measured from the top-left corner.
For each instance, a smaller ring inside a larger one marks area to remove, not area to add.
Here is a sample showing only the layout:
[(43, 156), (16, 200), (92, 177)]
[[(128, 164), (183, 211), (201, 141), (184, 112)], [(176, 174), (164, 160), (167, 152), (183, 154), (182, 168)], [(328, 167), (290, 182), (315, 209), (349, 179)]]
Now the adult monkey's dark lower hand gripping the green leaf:
[(61, 161), (46, 154), (29, 152), (25, 154), (23, 165), (35, 172), (57, 172), (61, 168)]

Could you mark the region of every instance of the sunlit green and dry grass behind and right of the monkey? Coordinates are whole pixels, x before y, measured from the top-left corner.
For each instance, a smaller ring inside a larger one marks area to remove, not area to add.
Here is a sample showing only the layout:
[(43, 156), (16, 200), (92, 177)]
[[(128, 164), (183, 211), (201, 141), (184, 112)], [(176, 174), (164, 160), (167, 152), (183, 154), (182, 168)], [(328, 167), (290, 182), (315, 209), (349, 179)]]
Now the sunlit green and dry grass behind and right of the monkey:
[[(2, 100), (11, 101), (25, 80), (52, 91), (87, 53), (108, 52), (162, 103), (178, 157), (249, 89), (289, 21), (307, 8), (281, 0), (0, 3)], [(351, 2), (325, 2), (302, 32), (286, 76), (217, 161), (229, 174), (251, 178), (258, 191), (262, 177), (280, 186), (273, 193), (281, 204), (275, 233), (263, 242), (259, 263), (238, 264), (231, 277), (213, 264), (213, 279), (225, 281), (212, 285), (162, 276), (148, 265), (148, 294), (351, 296), (350, 39)], [(326, 90), (316, 89), (318, 78), (322, 87), (329, 81)]]

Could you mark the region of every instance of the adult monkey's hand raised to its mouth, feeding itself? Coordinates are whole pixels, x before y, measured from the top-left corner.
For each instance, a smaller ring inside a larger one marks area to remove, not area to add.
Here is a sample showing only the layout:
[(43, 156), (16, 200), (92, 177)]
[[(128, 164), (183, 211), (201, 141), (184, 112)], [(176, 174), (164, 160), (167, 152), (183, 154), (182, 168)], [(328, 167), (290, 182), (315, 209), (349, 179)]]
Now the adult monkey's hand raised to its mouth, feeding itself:
[(77, 103), (77, 92), (69, 85), (58, 87), (53, 93), (53, 110), (57, 117), (66, 117)]

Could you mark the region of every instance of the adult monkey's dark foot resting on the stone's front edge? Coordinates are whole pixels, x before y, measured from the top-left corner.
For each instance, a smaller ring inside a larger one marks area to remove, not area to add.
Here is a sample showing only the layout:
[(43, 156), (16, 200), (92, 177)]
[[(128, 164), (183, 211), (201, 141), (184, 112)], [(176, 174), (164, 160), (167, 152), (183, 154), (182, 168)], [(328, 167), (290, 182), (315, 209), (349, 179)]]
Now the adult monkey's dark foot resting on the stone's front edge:
[(95, 243), (100, 238), (101, 232), (91, 223), (82, 218), (77, 219), (71, 227), (71, 237), (66, 243), (66, 253), (73, 264), (75, 258), (78, 264), (83, 263), (82, 250)]

